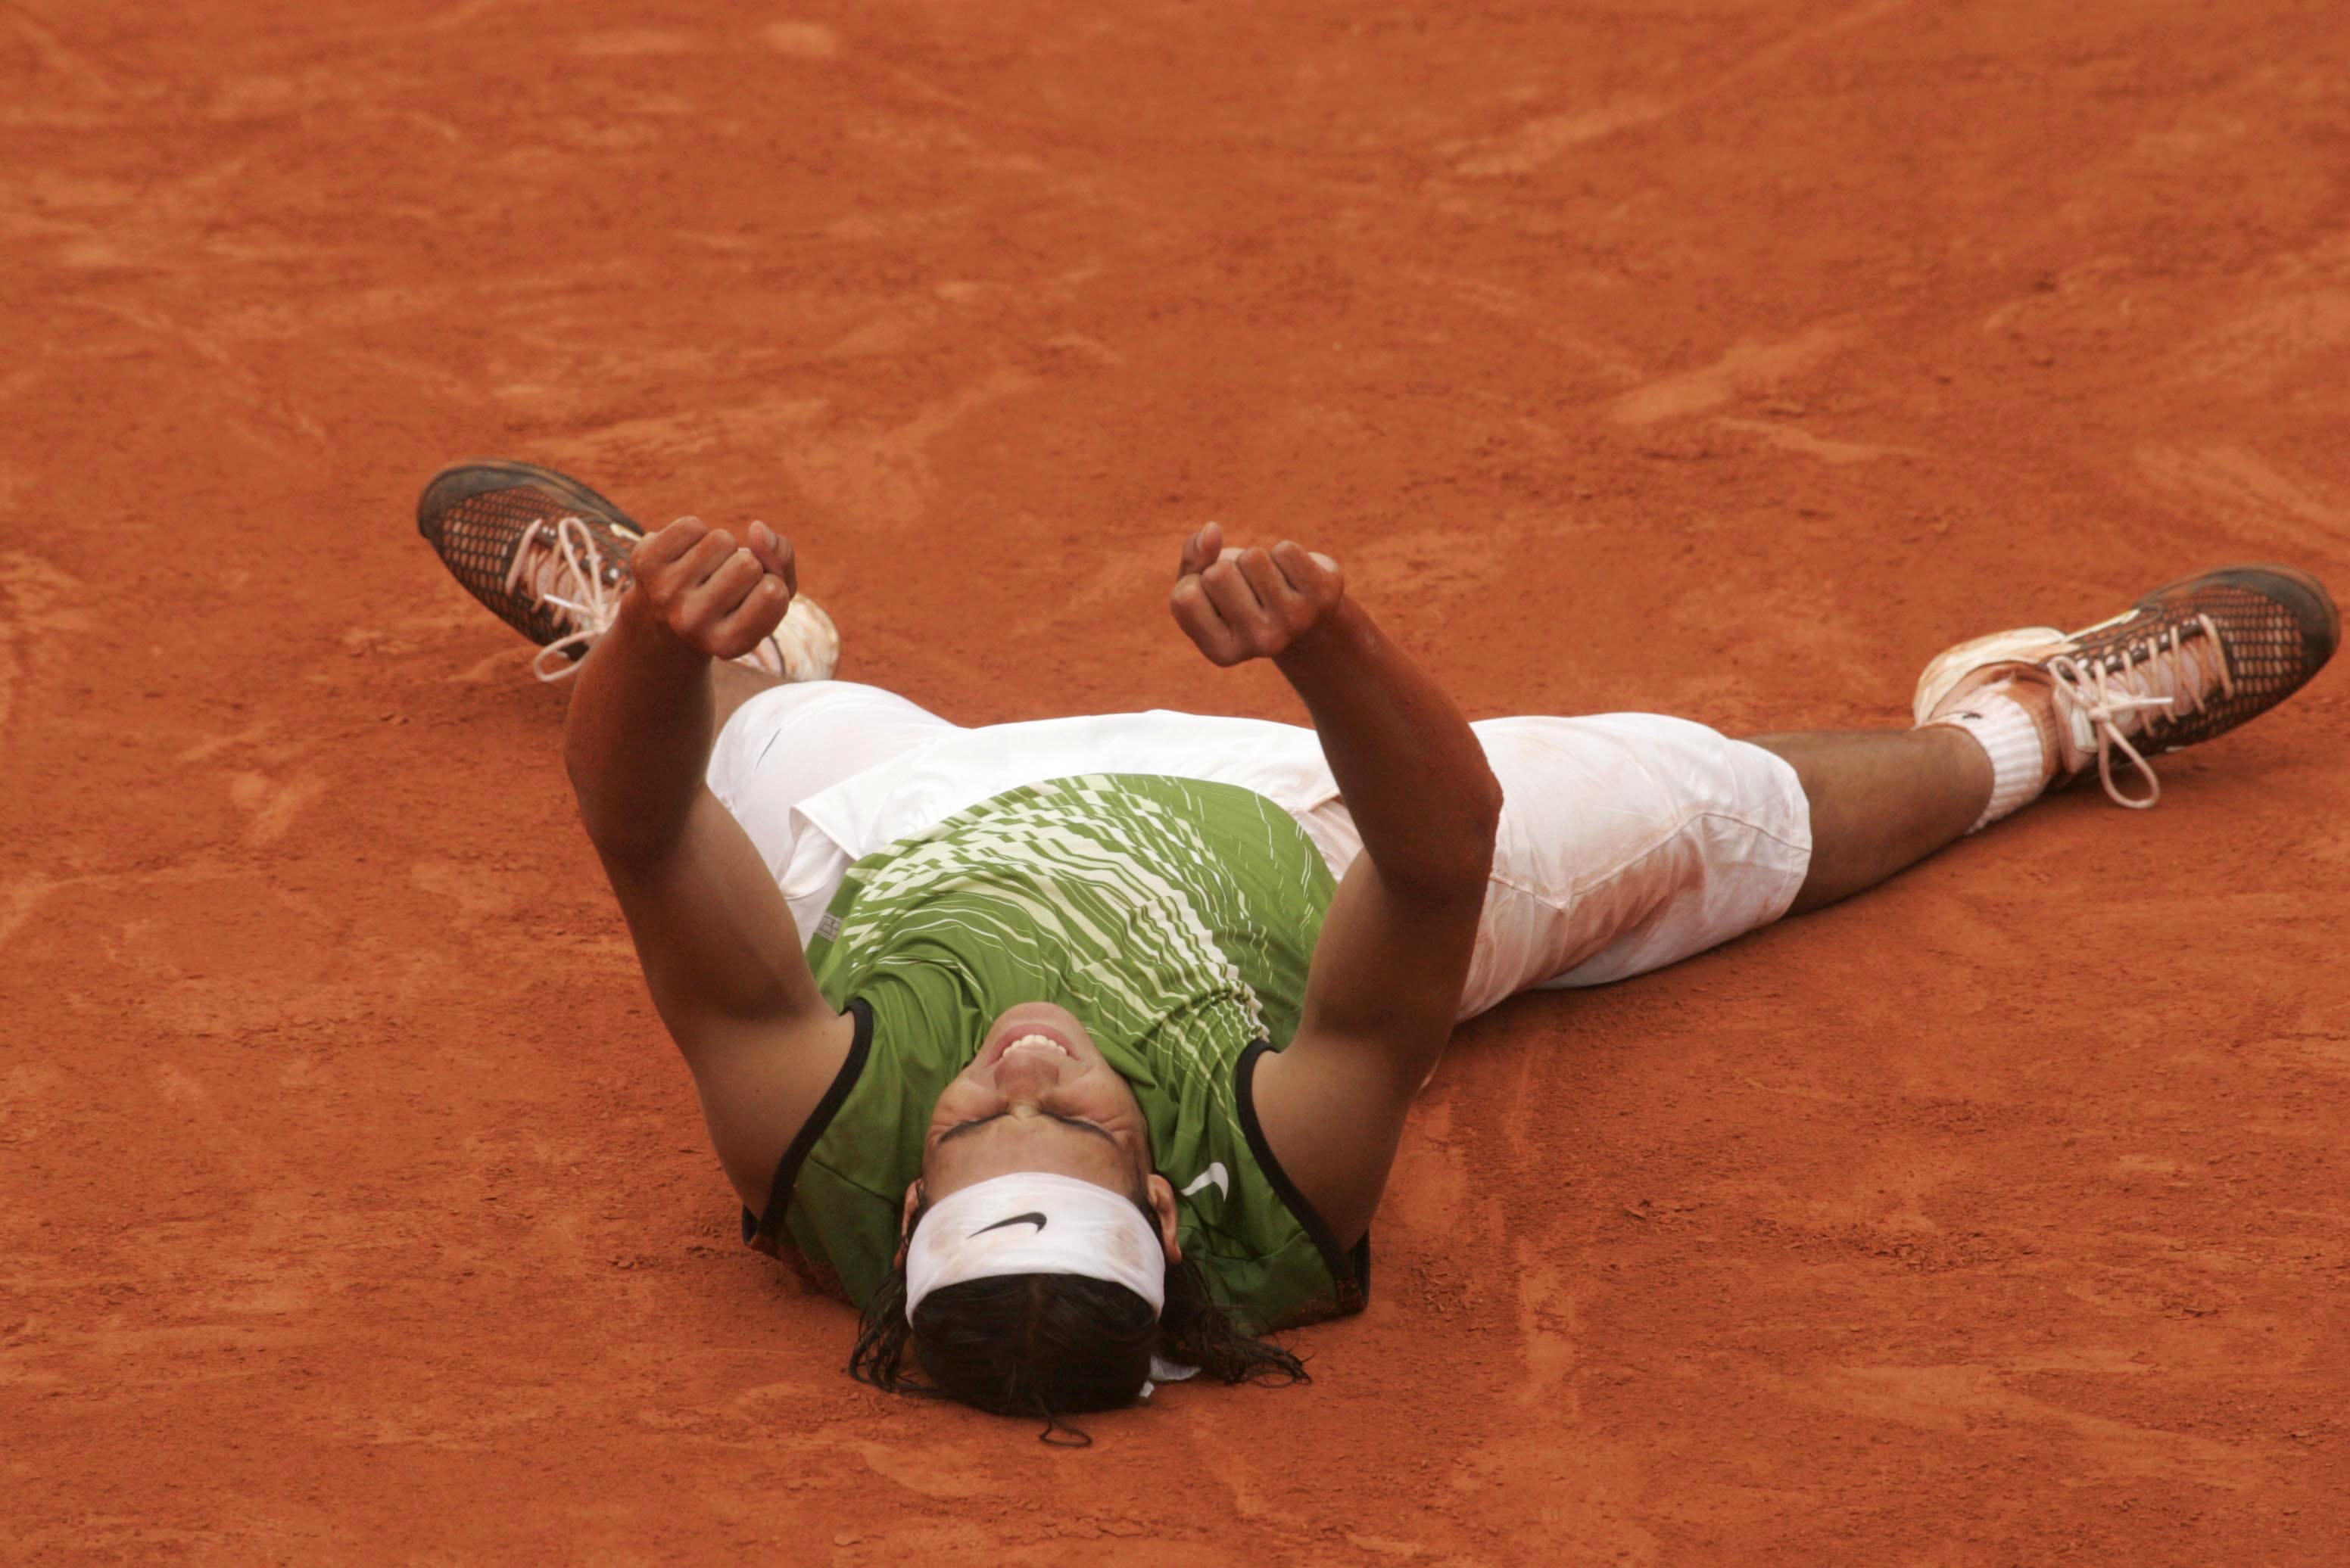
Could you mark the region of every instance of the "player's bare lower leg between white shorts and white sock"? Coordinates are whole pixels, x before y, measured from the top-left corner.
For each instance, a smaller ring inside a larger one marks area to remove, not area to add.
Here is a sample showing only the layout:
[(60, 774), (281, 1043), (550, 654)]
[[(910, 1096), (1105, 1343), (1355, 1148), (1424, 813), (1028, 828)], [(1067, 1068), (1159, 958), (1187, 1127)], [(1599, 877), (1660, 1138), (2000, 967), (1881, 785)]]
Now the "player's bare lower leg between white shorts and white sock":
[(1965, 730), (1748, 735), (1784, 758), (1812, 803), (1812, 869), (1791, 915), (1875, 887), (1983, 815), (1990, 758)]

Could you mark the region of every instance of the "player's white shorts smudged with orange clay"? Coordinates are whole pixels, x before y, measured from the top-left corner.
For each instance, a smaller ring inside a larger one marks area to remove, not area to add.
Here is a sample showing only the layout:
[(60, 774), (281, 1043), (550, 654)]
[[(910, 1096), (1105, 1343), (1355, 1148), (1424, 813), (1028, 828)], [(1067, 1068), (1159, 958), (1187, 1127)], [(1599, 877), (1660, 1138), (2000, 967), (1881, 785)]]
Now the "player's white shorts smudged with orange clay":
[[(1459, 1016), (1549, 986), (1600, 986), (1770, 925), (1812, 861), (1812, 810), (1779, 756), (1685, 718), (1488, 718), (1502, 829)], [(1022, 784), (1154, 772), (1278, 803), (1344, 876), (1363, 840), (1314, 730), (1260, 718), (1104, 714), (964, 730), (848, 681), (745, 702), (710, 756), (801, 941), (848, 864)]]

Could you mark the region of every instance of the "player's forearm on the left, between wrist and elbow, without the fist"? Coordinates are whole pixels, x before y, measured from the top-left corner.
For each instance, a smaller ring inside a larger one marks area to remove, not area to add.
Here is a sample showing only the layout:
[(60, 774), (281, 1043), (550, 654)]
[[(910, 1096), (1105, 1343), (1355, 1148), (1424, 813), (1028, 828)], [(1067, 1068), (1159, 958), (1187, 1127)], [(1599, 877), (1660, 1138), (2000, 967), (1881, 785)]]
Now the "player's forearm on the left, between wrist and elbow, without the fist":
[(630, 592), (580, 667), (564, 725), (564, 768), (597, 850), (642, 857), (677, 840), (710, 765), (710, 657)]

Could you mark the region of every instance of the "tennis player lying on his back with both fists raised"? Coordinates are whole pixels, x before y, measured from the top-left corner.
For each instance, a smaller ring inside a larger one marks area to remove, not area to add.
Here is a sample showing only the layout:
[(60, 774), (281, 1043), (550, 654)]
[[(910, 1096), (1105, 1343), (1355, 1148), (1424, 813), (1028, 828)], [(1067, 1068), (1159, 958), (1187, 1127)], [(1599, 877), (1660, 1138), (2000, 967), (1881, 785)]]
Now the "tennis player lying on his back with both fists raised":
[(580, 657), (564, 761), (745, 1237), (860, 1305), (851, 1371), (1053, 1420), (1356, 1312), (1457, 1019), (1849, 897), (2265, 711), (2341, 617), (2287, 568), (1936, 657), (1918, 728), (1464, 723), (1340, 566), (1180, 547), (1175, 624), (1311, 730), (1114, 714), (964, 730), (827, 678), (792, 547), (644, 535), (573, 479), (446, 469), (418, 526)]

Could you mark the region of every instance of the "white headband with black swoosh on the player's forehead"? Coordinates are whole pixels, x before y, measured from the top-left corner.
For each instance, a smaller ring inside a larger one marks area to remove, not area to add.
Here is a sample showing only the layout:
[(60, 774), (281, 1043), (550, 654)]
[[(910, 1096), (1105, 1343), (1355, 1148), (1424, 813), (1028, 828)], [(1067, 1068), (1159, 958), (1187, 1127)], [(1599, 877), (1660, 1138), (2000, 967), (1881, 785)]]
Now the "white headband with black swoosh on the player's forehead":
[(945, 1284), (1086, 1275), (1166, 1305), (1168, 1256), (1135, 1199), (1076, 1176), (1013, 1171), (931, 1204), (905, 1251), (905, 1319)]

